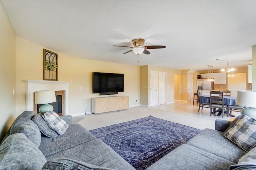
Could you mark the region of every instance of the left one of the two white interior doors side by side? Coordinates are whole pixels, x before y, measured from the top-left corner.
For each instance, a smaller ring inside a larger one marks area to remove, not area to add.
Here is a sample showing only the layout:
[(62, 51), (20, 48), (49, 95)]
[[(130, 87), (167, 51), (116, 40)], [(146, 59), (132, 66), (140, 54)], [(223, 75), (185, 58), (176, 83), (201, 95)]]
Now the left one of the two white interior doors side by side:
[(158, 96), (158, 80), (157, 72), (150, 71), (150, 106), (157, 105), (157, 96)]

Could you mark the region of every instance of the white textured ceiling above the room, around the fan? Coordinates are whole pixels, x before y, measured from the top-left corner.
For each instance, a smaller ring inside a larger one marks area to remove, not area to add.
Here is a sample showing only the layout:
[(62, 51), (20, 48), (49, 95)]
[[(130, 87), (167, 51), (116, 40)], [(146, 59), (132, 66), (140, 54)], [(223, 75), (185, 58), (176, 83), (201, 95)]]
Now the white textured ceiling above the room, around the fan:
[[(72, 57), (207, 70), (226, 66), (216, 58), (246, 67), (256, 45), (256, 0), (0, 1), (18, 37)], [(135, 38), (166, 48), (137, 56), (113, 46)]]

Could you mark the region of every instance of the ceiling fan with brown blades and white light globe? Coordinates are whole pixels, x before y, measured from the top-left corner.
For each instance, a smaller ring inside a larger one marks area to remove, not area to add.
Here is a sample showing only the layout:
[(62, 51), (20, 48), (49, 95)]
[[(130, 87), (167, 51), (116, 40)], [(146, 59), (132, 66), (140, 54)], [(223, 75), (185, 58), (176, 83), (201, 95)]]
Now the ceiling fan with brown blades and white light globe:
[(128, 52), (133, 51), (135, 54), (150, 54), (150, 52), (146, 49), (157, 49), (157, 48), (165, 48), (165, 46), (143, 46), (144, 45), (145, 40), (142, 38), (138, 38), (138, 39), (134, 39), (132, 40), (132, 44), (134, 45), (134, 47), (129, 47), (129, 46), (116, 46), (116, 47), (128, 47), (128, 48), (132, 48), (132, 50), (129, 50), (127, 52), (124, 52), (123, 54), (126, 54)]

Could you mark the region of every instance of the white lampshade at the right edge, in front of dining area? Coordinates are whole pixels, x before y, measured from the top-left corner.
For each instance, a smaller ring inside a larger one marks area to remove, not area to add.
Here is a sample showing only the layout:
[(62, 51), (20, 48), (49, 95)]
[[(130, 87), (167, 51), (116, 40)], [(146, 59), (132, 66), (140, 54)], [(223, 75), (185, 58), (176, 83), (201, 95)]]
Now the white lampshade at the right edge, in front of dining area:
[(236, 105), (246, 107), (256, 107), (256, 91), (238, 91)]

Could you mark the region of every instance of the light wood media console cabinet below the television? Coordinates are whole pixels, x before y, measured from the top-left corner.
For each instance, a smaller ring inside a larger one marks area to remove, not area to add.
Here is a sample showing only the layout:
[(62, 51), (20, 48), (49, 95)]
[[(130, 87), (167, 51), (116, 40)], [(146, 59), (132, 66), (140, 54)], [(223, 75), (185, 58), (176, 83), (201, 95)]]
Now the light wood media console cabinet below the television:
[(129, 108), (129, 96), (111, 96), (92, 98), (92, 113), (119, 111)]

